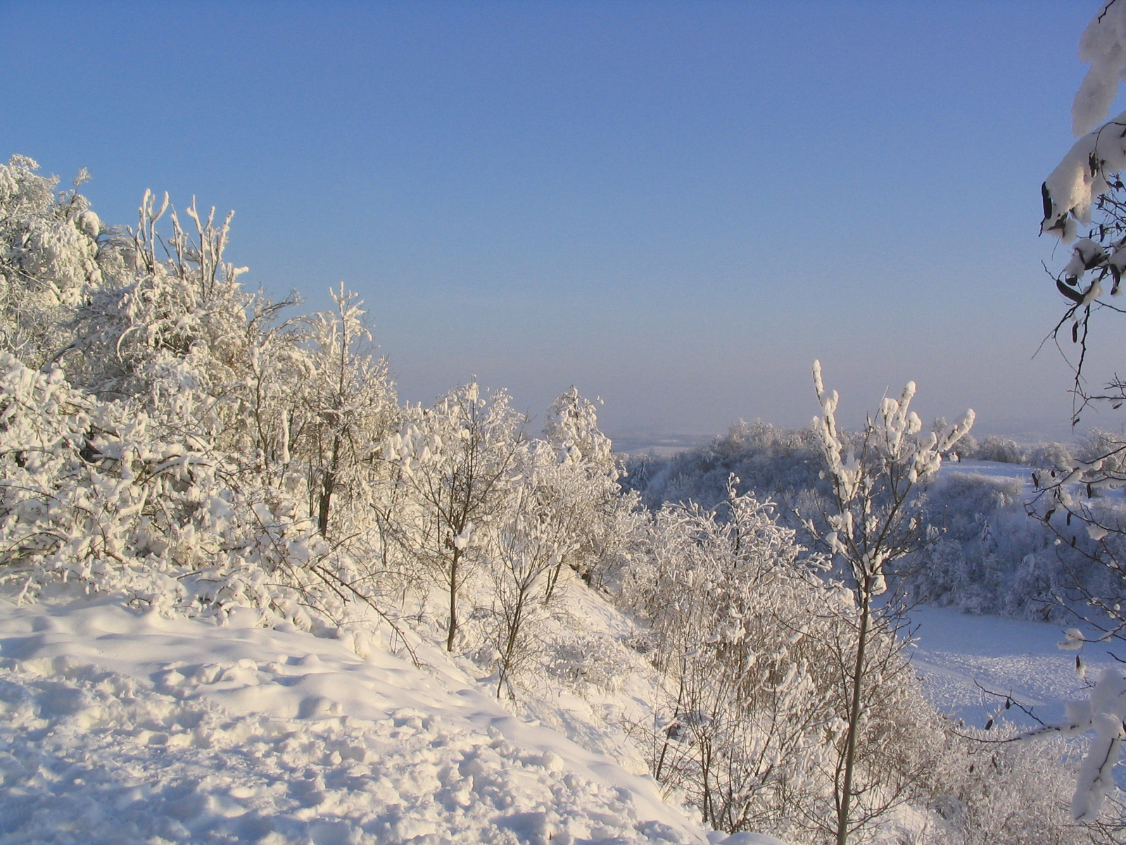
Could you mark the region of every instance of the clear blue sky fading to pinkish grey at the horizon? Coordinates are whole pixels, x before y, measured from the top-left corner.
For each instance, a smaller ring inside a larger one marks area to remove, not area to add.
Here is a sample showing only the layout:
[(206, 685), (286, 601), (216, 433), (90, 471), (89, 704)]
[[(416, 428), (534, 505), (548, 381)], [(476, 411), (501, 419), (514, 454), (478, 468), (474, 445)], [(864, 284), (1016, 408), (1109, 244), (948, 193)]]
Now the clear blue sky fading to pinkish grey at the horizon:
[(805, 425), (817, 357), (849, 421), (914, 379), (924, 418), (1065, 437), (1038, 188), (1097, 7), (2, 2), (0, 155), (88, 167), (110, 223), (234, 208), (243, 281), (343, 281), (411, 401)]

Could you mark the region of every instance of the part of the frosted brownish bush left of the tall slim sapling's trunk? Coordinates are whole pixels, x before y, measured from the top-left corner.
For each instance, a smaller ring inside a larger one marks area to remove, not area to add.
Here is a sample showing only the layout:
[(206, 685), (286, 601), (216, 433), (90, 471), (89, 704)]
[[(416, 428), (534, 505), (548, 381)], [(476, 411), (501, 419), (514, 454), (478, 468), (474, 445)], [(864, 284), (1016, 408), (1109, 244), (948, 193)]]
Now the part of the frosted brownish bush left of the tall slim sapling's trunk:
[(732, 480), (722, 508), (665, 505), (623, 585), (667, 677), (646, 731), (653, 775), (721, 829), (783, 833), (830, 741), (810, 650), (831, 595), (798, 552)]

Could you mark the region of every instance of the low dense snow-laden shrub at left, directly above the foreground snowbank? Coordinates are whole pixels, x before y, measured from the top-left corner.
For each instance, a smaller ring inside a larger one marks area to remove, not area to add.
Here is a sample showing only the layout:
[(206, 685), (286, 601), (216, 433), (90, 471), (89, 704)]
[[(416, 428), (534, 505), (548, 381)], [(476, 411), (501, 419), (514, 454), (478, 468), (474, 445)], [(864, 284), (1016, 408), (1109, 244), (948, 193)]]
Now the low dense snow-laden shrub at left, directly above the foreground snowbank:
[(154, 415), (7, 353), (0, 371), (0, 553), (21, 595), (74, 580), (164, 610), (269, 607), (271, 584), (300, 590), (302, 567), (327, 566), (291, 498), (232, 474), (199, 397)]

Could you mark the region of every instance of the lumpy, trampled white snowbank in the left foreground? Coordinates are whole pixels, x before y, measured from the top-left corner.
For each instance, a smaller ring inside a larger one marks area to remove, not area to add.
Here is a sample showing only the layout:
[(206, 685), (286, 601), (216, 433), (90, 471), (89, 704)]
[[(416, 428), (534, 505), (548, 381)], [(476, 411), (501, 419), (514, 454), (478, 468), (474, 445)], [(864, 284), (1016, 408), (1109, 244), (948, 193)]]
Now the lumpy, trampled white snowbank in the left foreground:
[(258, 621), (0, 599), (0, 842), (723, 838), (440, 653), (422, 670)]

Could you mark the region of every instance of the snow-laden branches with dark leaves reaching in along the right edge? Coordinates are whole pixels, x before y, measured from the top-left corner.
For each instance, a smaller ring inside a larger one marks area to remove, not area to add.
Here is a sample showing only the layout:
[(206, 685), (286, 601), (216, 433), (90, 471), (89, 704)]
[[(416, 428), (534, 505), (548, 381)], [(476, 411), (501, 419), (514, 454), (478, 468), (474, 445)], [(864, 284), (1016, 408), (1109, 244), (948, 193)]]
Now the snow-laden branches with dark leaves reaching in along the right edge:
[[(1093, 404), (1119, 408), (1126, 401), (1126, 382), (1117, 375), (1101, 389), (1085, 381), (1088, 337), (1094, 314), (1120, 313), (1106, 299), (1121, 292), (1126, 268), (1126, 113), (1107, 121), (1108, 112), (1126, 79), (1126, 1), (1103, 2), (1080, 38), (1079, 55), (1090, 62), (1072, 105), (1072, 131), (1079, 137), (1043, 185), (1044, 221), (1040, 231), (1064, 242), (1074, 241), (1066, 266), (1056, 276), (1067, 309), (1053, 335), (1071, 327), (1078, 347), (1074, 365), (1073, 424)], [(1083, 235), (1083, 237), (1079, 237)], [(1075, 240), (1079, 238), (1079, 240)], [(1109, 290), (1108, 290), (1109, 288)], [(1103, 629), (1105, 639), (1124, 639), (1126, 613), (1126, 519), (1120, 507), (1102, 499), (1107, 489), (1126, 482), (1121, 456), (1126, 443), (1110, 437), (1099, 454), (1064, 463), (1057, 471), (1034, 477), (1040, 489), (1029, 513), (1056, 533), (1058, 542), (1103, 568), (1102, 589), (1076, 584), (1078, 592), (1097, 608), (1089, 620)], [(1071, 643), (1075, 638), (1070, 638)], [(1081, 640), (1078, 644), (1082, 644)], [(1098, 816), (1111, 783), (1111, 770), (1123, 736), (1120, 704), (1123, 679), (1109, 670), (1092, 691), (1089, 702), (1069, 709), (1067, 731), (1093, 730), (1096, 740), (1083, 762), (1073, 815), (1091, 820)]]

